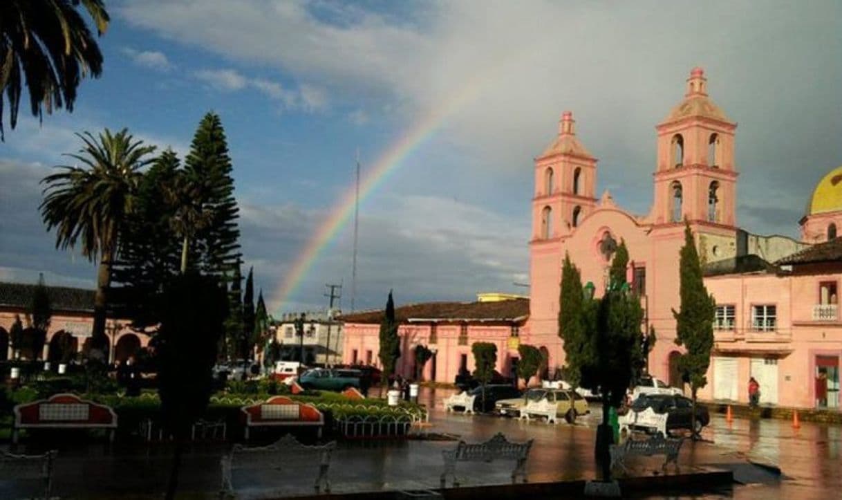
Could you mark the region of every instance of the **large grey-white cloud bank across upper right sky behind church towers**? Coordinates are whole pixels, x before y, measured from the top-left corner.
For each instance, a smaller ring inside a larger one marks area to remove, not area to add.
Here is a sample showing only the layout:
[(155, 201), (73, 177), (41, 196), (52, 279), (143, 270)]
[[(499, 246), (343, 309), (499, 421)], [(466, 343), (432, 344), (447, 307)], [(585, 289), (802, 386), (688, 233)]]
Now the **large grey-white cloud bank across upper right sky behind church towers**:
[[(842, 157), (837, 2), (445, 2), (383, 13), (305, 0), (150, 0), (118, 11), (184, 45), (311, 82), (338, 106), (388, 109), (397, 130), (437, 112), (438, 134), (417, 154), (452, 146), (453, 161), (482, 175), (528, 168), (558, 114), (573, 109), (600, 158), (599, 191), (621, 184), (612, 193), (637, 213), (653, 199), (653, 125), (682, 98), (692, 66), (705, 66), (711, 97), (739, 123), (741, 201), (769, 207), (770, 191), (797, 190), (789, 208), (800, 210), (805, 179)], [(781, 120), (786, 133), (770, 126)], [(429, 178), (451, 170), (443, 162)], [(773, 226), (758, 224), (749, 229)]]

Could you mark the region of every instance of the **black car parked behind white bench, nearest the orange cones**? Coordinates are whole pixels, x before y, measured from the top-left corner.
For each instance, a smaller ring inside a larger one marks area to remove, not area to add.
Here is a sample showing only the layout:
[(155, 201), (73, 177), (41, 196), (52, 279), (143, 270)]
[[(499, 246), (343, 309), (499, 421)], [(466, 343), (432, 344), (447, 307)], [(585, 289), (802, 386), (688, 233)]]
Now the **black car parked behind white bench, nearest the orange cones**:
[[(647, 420), (646, 414), (653, 412), (662, 415), (667, 414), (666, 431), (691, 428), (691, 416), (693, 414), (693, 402), (689, 397), (674, 396), (671, 394), (642, 394), (632, 402), (632, 407), (623, 417), (632, 430), (643, 430), (653, 432), (653, 424)], [(695, 407), (695, 434), (711, 422), (711, 416), (707, 407), (696, 405)]]

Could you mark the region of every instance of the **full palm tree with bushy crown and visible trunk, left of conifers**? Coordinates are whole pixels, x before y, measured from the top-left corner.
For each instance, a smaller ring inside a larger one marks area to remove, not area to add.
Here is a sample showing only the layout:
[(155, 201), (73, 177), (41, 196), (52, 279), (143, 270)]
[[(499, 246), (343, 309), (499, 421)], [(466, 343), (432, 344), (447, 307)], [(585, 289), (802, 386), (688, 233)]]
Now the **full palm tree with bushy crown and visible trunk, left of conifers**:
[(91, 262), (99, 259), (97, 291), (93, 299), (94, 345), (105, 336), (105, 290), (111, 280), (121, 226), (131, 212), (132, 198), (141, 178), (139, 169), (152, 161), (147, 157), (155, 146), (135, 141), (128, 130), (112, 135), (105, 129), (94, 137), (77, 134), (85, 143), (76, 154), (67, 154), (84, 168), (58, 166), (61, 172), (48, 175), (44, 201), (39, 207), (47, 231), (56, 228), (56, 248), (75, 247)]

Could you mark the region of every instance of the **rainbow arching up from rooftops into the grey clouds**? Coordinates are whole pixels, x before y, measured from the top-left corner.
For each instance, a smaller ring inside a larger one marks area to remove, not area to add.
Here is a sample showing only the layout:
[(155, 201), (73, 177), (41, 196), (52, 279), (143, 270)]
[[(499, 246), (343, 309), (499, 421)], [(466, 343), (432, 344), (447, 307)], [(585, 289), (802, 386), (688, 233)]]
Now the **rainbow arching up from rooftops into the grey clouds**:
[[(510, 57), (501, 57), (498, 61)], [(502, 62), (502, 61), (501, 61)], [(434, 106), (427, 114), (422, 115), (408, 131), (401, 136), (386, 152), (377, 159), (373, 168), (363, 173), (360, 178), (360, 203), (373, 193), (378, 186), (386, 182), (390, 175), (397, 172), (403, 162), (415, 152), (419, 146), (429, 141), (438, 132), (445, 121), (464, 104), (476, 98), (482, 85), (490, 81), (493, 76), (504, 70), (504, 64), (491, 65), (491, 71), (475, 73), (474, 77), (466, 79), (466, 84), (451, 93), (440, 105)], [(333, 241), (339, 231), (348, 224), (354, 215), (354, 201), (356, 186), (351, 184), (340, 197), (339, 203), (330, 210), (328, 217), (318, 226), (306, 246), (296, 257), (290, 271), (282, 280), (278, 289), (270, 299), (271, 311), (279, 312), (290, 299), (307, 272), (312, 268), (325, 247)]]

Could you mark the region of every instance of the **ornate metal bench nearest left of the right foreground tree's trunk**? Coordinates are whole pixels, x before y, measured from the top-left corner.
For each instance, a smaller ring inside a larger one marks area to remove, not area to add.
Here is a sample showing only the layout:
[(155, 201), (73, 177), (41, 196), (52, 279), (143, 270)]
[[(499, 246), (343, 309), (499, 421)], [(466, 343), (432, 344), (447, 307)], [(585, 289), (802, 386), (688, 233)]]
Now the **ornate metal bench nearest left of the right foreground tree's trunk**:
[(494, 434), (492, 439), (484, 443), (466, 443), (460, 441), (456, 449), (445, 449), (441, 452), (445, 459), (445, 471), (441, 473), (441, 487), (445, 487), (447, 476), (453, 477), (453, 486), (459, 486), (459, 479), (456, 477), (457, 462), (491, 462), (493, 460), (514, 460), (512, 471), (512, 482), (517, 481), (517, 476), (523, 477), (526, 482), (526, 459), (529, 458), (529, 450), (532, 447), (530, 439), (525, 443), (511, 443), (502, 433)]

